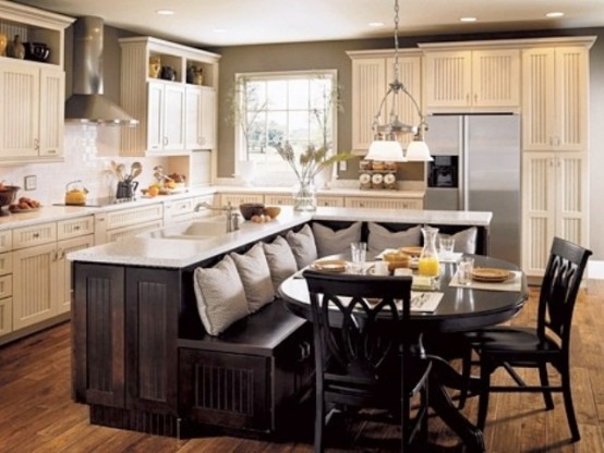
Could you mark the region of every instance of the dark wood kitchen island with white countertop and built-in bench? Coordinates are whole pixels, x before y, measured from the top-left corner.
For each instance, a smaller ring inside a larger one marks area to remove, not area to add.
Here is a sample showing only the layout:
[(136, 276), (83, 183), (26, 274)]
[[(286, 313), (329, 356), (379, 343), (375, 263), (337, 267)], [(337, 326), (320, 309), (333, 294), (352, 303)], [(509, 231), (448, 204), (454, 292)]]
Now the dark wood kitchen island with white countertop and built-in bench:
[[(476, 226), (476, 252), (488, 253), (490, 212), (347, 208), (312, 215), (286, 208), (269, 223), (243, 222), (231, 233), (220, 233), (219, 219), (204, 219), (198, 222), (212, 231), (205, 237), (188, 235), (191, 224), (172, 225), (74, 252), (68, 256), (73, 397), (89, 406), (90, 423), (172, 437), (210, 429), (277, 437), (295, 429), (291, 409), (313, 381), (306, 321), (279, 301), (209, 336), (198, 317), (193, 272), (314, 221), (373, 221), (392, 230), (431, 224), (448, 233)], [(202, 391), (209, 395), (205, 401)]]

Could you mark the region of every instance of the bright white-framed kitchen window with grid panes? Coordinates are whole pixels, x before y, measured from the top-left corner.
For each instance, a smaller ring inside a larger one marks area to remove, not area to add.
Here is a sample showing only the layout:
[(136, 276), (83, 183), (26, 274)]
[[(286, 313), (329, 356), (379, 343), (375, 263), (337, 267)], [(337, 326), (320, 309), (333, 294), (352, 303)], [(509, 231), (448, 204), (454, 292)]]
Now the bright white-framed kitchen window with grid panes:
[(274, 145), (289, 142), (295, 152), (310, 145), (337, 149), (339, 100), (335, 70), (237, 74), (230, 100), (235, 172), (253, 166), (256, 180), (291, 183), (293, 172)]

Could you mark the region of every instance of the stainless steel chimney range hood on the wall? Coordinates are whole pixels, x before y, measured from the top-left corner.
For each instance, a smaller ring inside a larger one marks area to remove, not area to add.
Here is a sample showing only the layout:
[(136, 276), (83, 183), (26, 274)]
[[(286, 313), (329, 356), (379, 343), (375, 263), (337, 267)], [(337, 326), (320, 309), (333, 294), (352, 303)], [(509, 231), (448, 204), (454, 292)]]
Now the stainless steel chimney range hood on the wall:
[(73, 28), (73, 95), (65, 103), (65, 122), (134, 126), (138, 121), (102, 95), (100, 17), (80, 17)]

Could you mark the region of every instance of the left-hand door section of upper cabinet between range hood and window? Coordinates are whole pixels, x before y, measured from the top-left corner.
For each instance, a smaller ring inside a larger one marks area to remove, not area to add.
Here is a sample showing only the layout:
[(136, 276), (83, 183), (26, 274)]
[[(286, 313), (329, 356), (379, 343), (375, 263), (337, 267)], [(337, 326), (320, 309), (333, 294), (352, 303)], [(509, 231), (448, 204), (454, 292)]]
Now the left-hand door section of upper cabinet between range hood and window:
[(172, 82), (149, 82), (147, 102), (148, 154), (184, 152), (184, 86)]

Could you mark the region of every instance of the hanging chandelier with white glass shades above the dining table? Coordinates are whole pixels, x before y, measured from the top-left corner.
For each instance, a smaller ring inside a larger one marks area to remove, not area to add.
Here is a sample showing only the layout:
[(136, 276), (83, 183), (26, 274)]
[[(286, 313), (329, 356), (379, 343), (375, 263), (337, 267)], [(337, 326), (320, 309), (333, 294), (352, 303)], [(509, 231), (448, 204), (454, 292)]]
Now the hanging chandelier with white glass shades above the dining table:
[[(367, 160), (383, 160), (392, 162), (406, 162), (408, 160), (413, 161), (431, 161), (430, 148), (427, 147), (424, 136), (426, 130), (425, 117), (420, 109), (420, 105), (413, 98), (407, 87), (399, 81), (399, 47), (398, 47), (398, 25), (399, 25), (399, 5), (398, 0), (395, 0), (395, 79), (388, 85), (388, 91), (379, 102), (377, 112), (373, 120), (373, 142), (370, 145), (370, 149), (365, 159)], [(420, 123), (415, 125), (404, 124), (398, 118), (398, 106), (400, 102), (400, 95), (404, 94), (411, 99), (411, 102), (418, 111), (420, 117)], [(380, 124), (379, 120), (382, 111), (386, 105), (388, 97), (391, 98), (390, 113), (388, 114), (388, 122)], [(402, 154), (402, 147), (398, 140), (400, 134), (412, 133), (415, 135), (413, 142), (407, 149), (407, 156)]]

